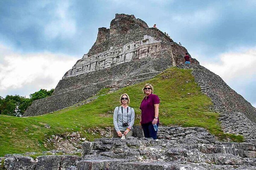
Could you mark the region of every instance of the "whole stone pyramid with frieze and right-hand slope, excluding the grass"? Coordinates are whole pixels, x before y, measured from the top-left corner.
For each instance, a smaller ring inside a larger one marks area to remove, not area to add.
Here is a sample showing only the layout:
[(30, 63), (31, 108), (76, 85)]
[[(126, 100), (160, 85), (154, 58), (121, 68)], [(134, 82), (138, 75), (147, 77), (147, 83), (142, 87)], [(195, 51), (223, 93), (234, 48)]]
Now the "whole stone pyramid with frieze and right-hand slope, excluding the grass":
[(110, 28), (99, 28), (96, 42), (82, 59), (66, 72), (52, 96), (36, 100), (24, 116), (36, 116), (72, 106), (102, 88), (119, 89), (152, 79), (165, 69), (192, 69), (202, 92), (220, 113), (224, 132), (242, 134), (256, 143), (256, 109), (219, 76), (192, 58), (184, 65), (186, 48), (157, 28), (149, 28), (134, 15), (116, 14)]

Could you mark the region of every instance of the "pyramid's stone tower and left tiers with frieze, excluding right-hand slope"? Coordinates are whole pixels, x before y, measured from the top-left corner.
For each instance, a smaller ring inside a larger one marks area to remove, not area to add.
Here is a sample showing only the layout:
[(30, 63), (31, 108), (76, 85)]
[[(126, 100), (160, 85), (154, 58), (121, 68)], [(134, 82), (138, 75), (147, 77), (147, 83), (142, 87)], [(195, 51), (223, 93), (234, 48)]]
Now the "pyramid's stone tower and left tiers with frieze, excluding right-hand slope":
[[(187, 50), (133, 15), (116, 14), (99, 28), (96, 42), (59, 81), (52, 96), (35, 100), (23, 116), (72, 106), (106, 87), (122, 88), (152, 79), (183, 62)], [(193, 59), (193, 63), (199, 62)]]

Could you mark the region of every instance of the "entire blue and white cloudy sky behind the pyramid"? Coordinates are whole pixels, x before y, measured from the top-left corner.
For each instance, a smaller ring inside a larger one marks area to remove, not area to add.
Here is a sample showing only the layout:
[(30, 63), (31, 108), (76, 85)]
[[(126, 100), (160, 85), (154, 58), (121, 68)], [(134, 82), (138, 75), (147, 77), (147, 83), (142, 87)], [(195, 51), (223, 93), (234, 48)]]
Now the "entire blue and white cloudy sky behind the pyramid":
[(256, 1), (0, 1), (0, 96), (55, 88), (116, 13), (167, 32), (256, 106)]

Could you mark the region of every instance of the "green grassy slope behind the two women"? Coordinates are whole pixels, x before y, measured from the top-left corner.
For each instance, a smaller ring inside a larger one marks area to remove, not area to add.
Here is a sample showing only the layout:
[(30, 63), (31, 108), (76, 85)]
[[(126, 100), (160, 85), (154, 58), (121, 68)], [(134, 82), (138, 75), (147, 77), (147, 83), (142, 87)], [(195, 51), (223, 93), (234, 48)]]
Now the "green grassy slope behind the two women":
[[(45, 138), (52, 134), (79, 131), (86, 140), (100, 138), (99, 133), (94, 134), (85, 130), (113, 127), (113, 111), (120, 105), (119, 97), (123, 93), (130, 96), (130, 106), (134, 108), (136, 114), (135, 125), (138, 125), (139, 106), (144, 96), (142, 88), (145, 83), (151, 83), (154, 86), (154, 94), (160, 97), (159, 118), (162, 125), (203, 127), (216, 135), (219, 140), (243, 141), (242, 136), (223, 133), (218, 121), (219, 114), (211, 111), (213, 104), (210, 98), (201, 93), (200, 87), (194, 82), (191, 70), (173, 67), (154, 79), (114, 93), (100, 95), (108, 91), (103, 89), (96, 100), (79, 107), (70, 107), (35, 117), (0, 115), (0, 156), (7, 153), (52, 149), (44, 147)], [(45, 124), (50, 125), (51, 128), (45, 128)]]

